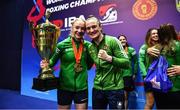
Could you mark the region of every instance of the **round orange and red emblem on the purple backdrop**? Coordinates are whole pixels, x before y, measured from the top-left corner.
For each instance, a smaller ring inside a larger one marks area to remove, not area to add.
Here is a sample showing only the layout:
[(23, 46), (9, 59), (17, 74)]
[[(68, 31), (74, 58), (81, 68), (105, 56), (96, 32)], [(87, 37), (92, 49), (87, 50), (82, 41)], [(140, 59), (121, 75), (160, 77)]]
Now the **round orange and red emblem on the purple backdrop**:
[(157, 13), (158, 6), (154, 0), (137, 0), (133, 5), (133, 15), (139, 20), (149, 20)]

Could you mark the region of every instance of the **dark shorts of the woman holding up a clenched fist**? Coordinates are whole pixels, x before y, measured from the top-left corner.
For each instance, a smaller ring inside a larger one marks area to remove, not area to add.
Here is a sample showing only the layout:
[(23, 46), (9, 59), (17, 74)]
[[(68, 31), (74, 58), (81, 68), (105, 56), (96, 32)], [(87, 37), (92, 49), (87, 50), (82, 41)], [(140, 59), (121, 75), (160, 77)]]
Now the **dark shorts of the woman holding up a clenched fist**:
[(124, 90), (93, 89), (93, 109), (124, 109)]

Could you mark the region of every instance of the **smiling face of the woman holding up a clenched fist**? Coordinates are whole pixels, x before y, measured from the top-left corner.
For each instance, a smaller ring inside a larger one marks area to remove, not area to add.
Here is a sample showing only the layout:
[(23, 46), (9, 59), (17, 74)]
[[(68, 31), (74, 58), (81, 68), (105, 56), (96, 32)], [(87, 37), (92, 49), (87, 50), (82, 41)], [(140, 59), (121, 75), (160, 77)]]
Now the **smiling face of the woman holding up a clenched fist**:
[(96, 18), (86, 20), (86, 32), (91, 39), (98, 39), (102, 34), (102, 27)]

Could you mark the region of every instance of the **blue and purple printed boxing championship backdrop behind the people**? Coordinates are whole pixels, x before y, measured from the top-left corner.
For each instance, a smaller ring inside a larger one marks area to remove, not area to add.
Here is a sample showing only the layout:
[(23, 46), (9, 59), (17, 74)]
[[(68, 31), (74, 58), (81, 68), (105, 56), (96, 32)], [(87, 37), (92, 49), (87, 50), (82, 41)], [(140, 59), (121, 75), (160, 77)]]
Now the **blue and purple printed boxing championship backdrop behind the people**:
[[(124, 34), (128, 42), (137, 50), (144, 43), (146, 32), (151, 27), (172, 23), (180, 31), (180, 0), (26, 0), (26, 19), (24, 21), (22, 48), (21, 94), (57, 101), (56, 90), (40, 92), (33, 90), (32, 80), (38, 76), (41, 61), (29, 30), (29, 21), (34, 24), (45, 21), (45, 10), (51, 12), (49, 20), (61, 27), (59, 42), (67, 37), (71, 23), (77, 18), (86, 19), (94, 15), (100, 19), (103, 31), (117, 37)], [(85, 35), (86, 40), (90, 40)], [(60, 63), (55, 66), (58, 76)], [(89, 106), (95, 68), (89, 73)], [(132, 93), (131, 101), (144, 103), (143, 84), (140, 75), (136, 79), (137, 88)], [(142, 104), (141, 104), (142, 105)], [(140, 108), (136, 104), (136, 108)]]

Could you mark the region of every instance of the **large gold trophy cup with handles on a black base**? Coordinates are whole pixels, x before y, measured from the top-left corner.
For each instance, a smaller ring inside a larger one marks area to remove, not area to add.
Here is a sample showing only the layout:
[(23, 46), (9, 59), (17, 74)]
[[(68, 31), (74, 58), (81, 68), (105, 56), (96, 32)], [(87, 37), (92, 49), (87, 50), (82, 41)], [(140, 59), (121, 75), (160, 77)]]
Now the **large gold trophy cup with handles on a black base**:
[(53, 75), (53, 70), (48, 66), (49, 59), (55, 49), (58, 37), (60, 36), (60, 28), (49, 22), (50, 12), (46, 11), (46, 22), (34, 26), (30, 23), (31, 32), (35, 38), (36, 49), (46, 65), (41, 66), (38, 78), (33, 78), (33, 89), (47, 91), (56, 89), (58, 78)]

